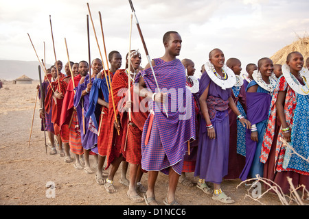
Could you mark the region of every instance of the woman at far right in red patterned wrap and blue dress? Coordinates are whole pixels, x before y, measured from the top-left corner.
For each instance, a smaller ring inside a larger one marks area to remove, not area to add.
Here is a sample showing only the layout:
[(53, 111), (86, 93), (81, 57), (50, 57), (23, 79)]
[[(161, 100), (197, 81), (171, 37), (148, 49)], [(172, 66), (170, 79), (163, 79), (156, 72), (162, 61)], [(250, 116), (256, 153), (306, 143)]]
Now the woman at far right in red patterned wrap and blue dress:
[[(275, 183), (271, 185), (279, 185), (284, 194), (291, 189), (286, 177), (293, 179), (295, 188), (304, 185), (309, 189), (309, 163), (304, 159), (309, 153), (309, 70), (303, 66), (301, 53), (288, 54), (274, 90), (260, 156), (264, 177)], [(308, 199), (308, 194), (302, 198)]]

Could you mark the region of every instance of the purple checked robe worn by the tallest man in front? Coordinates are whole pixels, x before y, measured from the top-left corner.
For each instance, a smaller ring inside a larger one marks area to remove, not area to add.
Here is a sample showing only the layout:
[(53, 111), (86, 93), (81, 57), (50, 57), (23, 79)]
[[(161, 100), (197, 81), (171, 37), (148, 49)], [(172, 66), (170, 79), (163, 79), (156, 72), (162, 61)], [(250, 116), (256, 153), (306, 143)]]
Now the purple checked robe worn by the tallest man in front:
[[(148, 145), (145, 145), (145, 139), (150, 116), (144, 125), (141, 139), (141, 166), (144, 170), (161, 170), (165, 174), (168, 173), (167, 168), (172, 166), (181, 175), (183, 155), (187, 151), (186, 142), (195, 139), (194, 99), (190, 90), (185, 87), (185, 68), (180, 60), (154, 61), (153, 68), (161, 92), (170, 92), (165, 103), (168, 118), (162, 105), (153, 104), (155, 118)], [(152, 70), (148, 68), (140, 74), (147, 88), (152, 92), (158, 92)], [(157, 162), (158, 158), (160, 162)]]

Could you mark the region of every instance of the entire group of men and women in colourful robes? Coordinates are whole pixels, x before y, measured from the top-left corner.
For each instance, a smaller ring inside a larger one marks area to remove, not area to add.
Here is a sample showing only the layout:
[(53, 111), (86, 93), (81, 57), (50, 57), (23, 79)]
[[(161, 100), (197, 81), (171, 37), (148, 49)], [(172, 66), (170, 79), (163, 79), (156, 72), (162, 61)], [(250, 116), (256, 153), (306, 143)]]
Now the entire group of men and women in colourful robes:
[(290, 53), (284, 66), (264, 57), (242, 73), (240, 60), (225, 62), (214, 49), (196, 78), (194, 62), (177, 59), (181, 43), (176, 31), (165, 33), (165, 53), (144, 68), (138, 50), (126, 54), (124, 69), (117, 51), (108, 54), (108, 68), (97, 58), (90, 66), (67, 62), (62, 74), (56, 62), (40, 95), (50, 154), (75, 160), (75, 168), (94, 173), (109, 193), (117, 192), (113, 182), (122, 164), (119, 181), (128, 185), (128, 198), (147, 205), (157, 205), (159, 171), (169, 179), (165, 205), (179, 205), (178, 183), (194, 185), (187, 172), (198, 177), (198, 189), (222, 203), (235, 202), (222, 191), (223, 179), (258, 175), (285, 193), (291, 177), (308, 198), (309, 71), (301, 53)]

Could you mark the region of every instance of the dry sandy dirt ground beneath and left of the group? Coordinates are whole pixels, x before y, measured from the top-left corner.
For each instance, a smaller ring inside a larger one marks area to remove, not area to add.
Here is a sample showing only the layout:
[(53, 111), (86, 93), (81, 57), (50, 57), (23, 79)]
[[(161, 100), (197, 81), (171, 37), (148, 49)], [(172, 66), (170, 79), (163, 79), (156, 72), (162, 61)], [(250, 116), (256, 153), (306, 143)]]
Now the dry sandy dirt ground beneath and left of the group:
[[(127, 196), (127, 187), (118, 182), (121, 168), (115, 175), (115, 194), (108, 194), (104, 185), (95, 182), (94, 174), (73, 168), (73, 163), (65, 163), (59, 155), (45, 153), (44, 132), (38, 116), (36, 85), (16, 85), (10, 81), (0, 89), (0, 205), (128, 205), (144, 206), (133, 203)], [(36, 103), (35, 111), (34, 105)], [(34, 122), (30, 146), (32, 117)], [(72, 156), (73, 157), (73, 156)], [(94, 164), (94, 156), (91, 156)], [(147, 174), (142, 184), (147, 186)], [(196, 182), (193, 174), (188, 175)], [(51, 197), (47, 182), (53, 182), (54, 197)], [(245, 197), (247, 189), (240, 180), (225, 180), (222, 190), (231, 196), (233, 205), (261, 205)], [(168, 177), (159, 173), (156, 184), (156, 199), (163, 205), (168, 190)], [(48, 193), (49, 192), (49, 193)], [(49, 195), (48, 195), (49, 194)], [(211, 196), (193, 187), (179, 184), (176, 198), (182, 205), (225, 205), (211, 200)], [(281, 205), (275, 194), (267, 193), (260, 199), (265, 205)]]

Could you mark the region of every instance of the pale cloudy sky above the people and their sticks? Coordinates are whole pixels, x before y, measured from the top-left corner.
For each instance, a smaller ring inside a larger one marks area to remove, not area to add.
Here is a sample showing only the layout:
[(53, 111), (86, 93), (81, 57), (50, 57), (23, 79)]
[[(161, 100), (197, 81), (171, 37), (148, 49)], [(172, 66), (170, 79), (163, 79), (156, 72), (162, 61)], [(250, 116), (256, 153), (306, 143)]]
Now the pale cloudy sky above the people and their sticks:
[[(107, 53), (117, 50), (124, 57), (129, 49), (128, 0), (0, 0), (0, 60), (37, 61), (30, 34), (38, 57), (44, 57), (45, 42), (45, 60), (53, 64), (49, 15), (57, 59), (67, 62), (66, 38), (71, 61), (89, 60), (87, 3), (104, 59), (99, 11)], [(261, 57), (271, 57), (297, 36), (308, 36), (308, 0), (133, 0), (133, 5), (150, 57), (163, 55), (162, 36), (166, 31), (178, 31), (183, 39), (179, 59), (193, 60), (197, 75), (211, 49), (222, 49), (226, 59), (238, 57), (244, 69)], [(89, 25), (92, 60), (100, 53), (90, 18)], [(147, 60), (135, 20), (131, 49), (141, 51), (145, 66)]]

